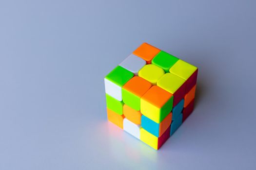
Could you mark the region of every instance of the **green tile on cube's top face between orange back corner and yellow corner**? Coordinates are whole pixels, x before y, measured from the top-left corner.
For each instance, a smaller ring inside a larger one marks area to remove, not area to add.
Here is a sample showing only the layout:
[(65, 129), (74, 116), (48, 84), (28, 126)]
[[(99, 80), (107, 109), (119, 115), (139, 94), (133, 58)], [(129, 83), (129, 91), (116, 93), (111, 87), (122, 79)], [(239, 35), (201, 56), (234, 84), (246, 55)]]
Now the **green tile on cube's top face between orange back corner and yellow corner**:
[(178, 61), (179, 59), (167, 52), (160, 51), (152, 60), (152, 64), (164, 69), (167, 73), (169, 69)]

